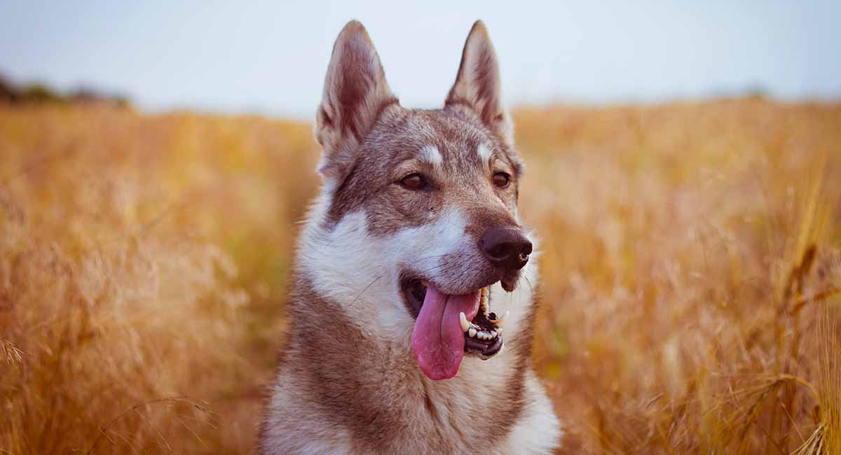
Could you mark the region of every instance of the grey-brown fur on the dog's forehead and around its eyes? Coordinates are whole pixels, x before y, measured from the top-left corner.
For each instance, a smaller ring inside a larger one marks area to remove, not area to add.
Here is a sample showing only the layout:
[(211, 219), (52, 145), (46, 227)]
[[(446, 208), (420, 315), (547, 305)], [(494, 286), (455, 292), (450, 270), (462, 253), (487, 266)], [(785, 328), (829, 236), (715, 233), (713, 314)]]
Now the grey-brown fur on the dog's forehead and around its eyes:
[[(413, 160), (429, 144), (442, 154), (440, 171)], [(479, 144), (494, 147), (497, 159), (492, 170), (479, 164)], [(442, 207), (455, 204), (466, 212), (480, 212), (471, 224), (483, 229), (488, 227), (488, 210), (495, 213), (495, 222), (516, 225), (509, 212), (516, 211), (520, 168), (515, 152), (471, 112), (459, 108), (419, 111), (392, 105), (360, 145), (352, 170), (336, 190), (328, 222), (336, 223), (346, 213), (367, 207), (370, 232), (386, 235), (429, 222)], [(438, 191), (413, 193), (394, 185), (417, 170), (429, 175)], [(509, 189), (497, 190), (491, 184), (495, 170), (513, 176)]]

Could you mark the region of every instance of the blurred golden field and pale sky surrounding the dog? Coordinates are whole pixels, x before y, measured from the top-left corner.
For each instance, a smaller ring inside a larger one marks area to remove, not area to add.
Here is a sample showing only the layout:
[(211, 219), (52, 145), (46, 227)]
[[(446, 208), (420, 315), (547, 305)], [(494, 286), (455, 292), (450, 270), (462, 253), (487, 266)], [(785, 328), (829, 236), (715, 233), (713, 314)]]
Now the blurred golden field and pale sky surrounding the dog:
[(839, 17), (0, 3), (0, 452), (254, 452), (351, 18), (407, 107), (488, 25), (562, 453), (841, 452)]

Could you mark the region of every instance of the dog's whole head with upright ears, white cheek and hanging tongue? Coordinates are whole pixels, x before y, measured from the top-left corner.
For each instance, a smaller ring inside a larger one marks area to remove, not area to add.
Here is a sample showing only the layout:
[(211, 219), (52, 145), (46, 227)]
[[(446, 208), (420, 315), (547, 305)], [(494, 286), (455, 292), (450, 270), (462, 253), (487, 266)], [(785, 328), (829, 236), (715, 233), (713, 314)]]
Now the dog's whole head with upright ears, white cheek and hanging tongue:
[(477, 22), (444, 107), (405, 109), (353, 21), (336, 39), (317, 113), (325, 184), (301, 265), (366, 332), (410, 333), (431, 379), (454, 376), (463, 353), (499, 352), (502, 290), (516, 289), (532, 254), (499, 73)]

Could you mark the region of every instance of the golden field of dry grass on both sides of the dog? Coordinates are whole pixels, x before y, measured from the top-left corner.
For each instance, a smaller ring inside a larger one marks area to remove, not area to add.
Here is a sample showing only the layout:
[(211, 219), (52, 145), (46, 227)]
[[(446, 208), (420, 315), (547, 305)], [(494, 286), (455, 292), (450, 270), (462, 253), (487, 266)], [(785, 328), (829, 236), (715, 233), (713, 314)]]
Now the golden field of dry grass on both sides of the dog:
[[(565, 453), (841, 453), (841, 105), (521, 108)], [(0, 105), (0, 452), (247, 453), (307, 124)]]

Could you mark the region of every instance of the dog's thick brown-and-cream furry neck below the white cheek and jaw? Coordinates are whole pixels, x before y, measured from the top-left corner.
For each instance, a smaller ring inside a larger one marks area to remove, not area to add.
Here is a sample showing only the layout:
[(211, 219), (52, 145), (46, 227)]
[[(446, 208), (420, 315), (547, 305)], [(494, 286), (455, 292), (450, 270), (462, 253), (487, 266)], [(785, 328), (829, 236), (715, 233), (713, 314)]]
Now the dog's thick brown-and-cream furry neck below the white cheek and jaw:
[(488, 361), (466, 357), (455, 378), (433, 381), (417, 366), (408, 340), (352, 322), (310, 280), (296, 280), (292, 295), (291, 338), (280, 368), (297, 374), (308, 399), (361, 448), (397, 448), (389, 444), (423, 437), (448, 441), (451, 446), (439, 447), (445, 452), (452, 451), (452, 441), (493, 444), (521, 415), (527, 335), (506, 341), (504, 351)]

